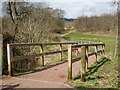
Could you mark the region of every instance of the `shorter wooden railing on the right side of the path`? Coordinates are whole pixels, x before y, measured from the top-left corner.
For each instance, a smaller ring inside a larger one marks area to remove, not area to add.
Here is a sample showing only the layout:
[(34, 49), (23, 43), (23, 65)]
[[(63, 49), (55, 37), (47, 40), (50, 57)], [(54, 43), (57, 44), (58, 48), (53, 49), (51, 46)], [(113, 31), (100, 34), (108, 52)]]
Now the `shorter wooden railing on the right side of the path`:
[[(68, 79), (72, 79), (72, 63), (75, 60), (80, 60), (81, 58), (81, 80), (85, 81), (85, 74), (88, 68), (88, 58), (91, 55), (96, 56), (96, 61), (98, 59), (98, 53), (101, 55), (105, 54), (104, 50), (105, 44), (98, 43), (98, 44), (79, 44), (79, 45), (69, 45), (68, 48)], [(72, 50), (74, 48), (78, 49), (78, 52), (81, 53), (80, 57), (73, 59), (72, 57)], [(89, 49), (94, 48), (94, 52), (90, 52)]]

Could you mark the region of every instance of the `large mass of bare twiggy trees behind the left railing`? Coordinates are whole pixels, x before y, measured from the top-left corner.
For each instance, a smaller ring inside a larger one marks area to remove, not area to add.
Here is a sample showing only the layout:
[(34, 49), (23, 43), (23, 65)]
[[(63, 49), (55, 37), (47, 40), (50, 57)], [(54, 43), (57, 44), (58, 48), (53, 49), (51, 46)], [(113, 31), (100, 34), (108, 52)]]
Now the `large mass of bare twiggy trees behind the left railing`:
[[(3, 74), (7, 74), (7, 43), (48, 42), (54, 38), (54, 34), (64, 30), (63, 17), (63, 10), (50, 8), (43, 2), (4, 2), (2, 17)], [(31, 52), (31, 47), (13, 48), (13, 51), (14, 55), (34, 53)], [(27, 53), (25, 53), (26, 51)], [(33, 63), (32, 59), (27, 62)]]

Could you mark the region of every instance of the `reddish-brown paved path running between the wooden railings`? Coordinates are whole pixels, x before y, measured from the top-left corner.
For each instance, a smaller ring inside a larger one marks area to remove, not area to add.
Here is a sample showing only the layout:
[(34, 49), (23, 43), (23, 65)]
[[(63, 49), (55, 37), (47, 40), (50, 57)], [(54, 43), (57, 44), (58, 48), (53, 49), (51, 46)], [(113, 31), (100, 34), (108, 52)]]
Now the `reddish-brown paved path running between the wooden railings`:
[[(99, 57), (100, 58), (100, 57)], [(89, 66), (95, 62), (95, 56), (89, 57)], [(73, 63), (73, 77), (80, 70), (81, 61)], [(54, 67), (12, 78), (3, 78), (3, 88), (72, 88), (67, 84), (68, 62)]]

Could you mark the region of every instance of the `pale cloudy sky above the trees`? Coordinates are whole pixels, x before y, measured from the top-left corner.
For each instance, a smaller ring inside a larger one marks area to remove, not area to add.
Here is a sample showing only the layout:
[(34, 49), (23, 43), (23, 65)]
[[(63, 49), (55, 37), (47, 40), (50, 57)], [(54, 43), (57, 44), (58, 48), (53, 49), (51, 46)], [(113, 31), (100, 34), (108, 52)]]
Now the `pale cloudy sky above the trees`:
[[(0, 0), (0, 9), (2, 2)], [(101, 15), (104, 13), (113, 13), (115, 10), (111, 5), (112, 0), (27, 0), (31, 2), (47, 2), (52, 8), (59, 8), (65, 11), (66, 18), (77, 18), (81, 15)], [(2, 12), (0, 10), (0, 15)]]

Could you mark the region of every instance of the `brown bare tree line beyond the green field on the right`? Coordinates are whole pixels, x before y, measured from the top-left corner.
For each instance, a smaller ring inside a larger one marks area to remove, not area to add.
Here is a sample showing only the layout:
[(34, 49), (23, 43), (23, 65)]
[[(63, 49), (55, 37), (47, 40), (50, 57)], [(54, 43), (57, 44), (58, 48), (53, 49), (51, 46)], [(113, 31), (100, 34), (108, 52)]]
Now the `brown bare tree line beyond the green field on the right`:
[(92, 34), (116, 34), (118, 25), (116, 14), (103, 14), (100, 16), (81, 16), (74, 21), (74, 28), (79, 32)]

